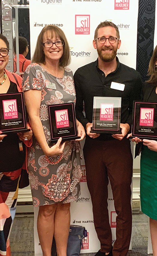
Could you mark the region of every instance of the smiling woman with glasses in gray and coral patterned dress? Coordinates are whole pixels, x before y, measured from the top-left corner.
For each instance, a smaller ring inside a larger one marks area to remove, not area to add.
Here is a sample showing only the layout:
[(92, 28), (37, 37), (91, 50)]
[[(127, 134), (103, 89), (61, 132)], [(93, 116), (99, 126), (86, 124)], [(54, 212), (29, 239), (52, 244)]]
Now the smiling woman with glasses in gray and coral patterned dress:
[[(24, 73), (23, 91), (34, 133), (28, 154), (33, 205), (39, 206), (38, 236), (43, 256), (51, 256), (53, 235), (58, 256), (66, 256), (70, 202), (80, 193), (80, 142), (50, 143), (48, 105), (75, 102), (72, 71), (66, 66), (70, 51), (63, 31), (53, 25), (38, 36), (32, 64)], [(53, 85), (53, 89), (52, 89)], [(81, 140), (85, 131), (77, 121)]]

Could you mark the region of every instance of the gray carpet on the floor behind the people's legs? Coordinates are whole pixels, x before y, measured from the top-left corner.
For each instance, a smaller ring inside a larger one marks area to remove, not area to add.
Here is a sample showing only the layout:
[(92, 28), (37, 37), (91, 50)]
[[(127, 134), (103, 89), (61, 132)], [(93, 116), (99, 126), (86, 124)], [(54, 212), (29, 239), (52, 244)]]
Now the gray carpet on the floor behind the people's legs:
[[(128, 256), (146, 256), (148, 242), (148, 219), (140, 214), (133, 214), (132, 250)], [(34, 256), (33, 217), (17, 217), (14, 220), (10, 244), (12, 256)], [(152, 256), (152, 254), (149, 254)], [(94, 256), (94, 253), (81, 254)]]

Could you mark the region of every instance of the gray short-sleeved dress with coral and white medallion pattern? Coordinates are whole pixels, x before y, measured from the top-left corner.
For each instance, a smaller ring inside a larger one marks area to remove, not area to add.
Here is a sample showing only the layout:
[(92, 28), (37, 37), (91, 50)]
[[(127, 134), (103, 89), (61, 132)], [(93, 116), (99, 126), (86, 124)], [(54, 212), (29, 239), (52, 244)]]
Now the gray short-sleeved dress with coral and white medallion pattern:
[[(55, 89), (49, 89), (48, 83)], [(50, 145), (50, 123), (48, 105), (75, 102), (75, 88), (72, 71), (64, 69), (62, 78), (57, 78), (39, 64), (31, 64), (23, 75), (23, 91), (41, 90), (40, 118), (45, 138)], [(28, 151), (28, 171), (33, 205), (41, 206), (61, 202), (69, 203), (80, 194), (81, 171), (80, 143), (67, 141), (63, 153), (47, 157), (33, 136)]]

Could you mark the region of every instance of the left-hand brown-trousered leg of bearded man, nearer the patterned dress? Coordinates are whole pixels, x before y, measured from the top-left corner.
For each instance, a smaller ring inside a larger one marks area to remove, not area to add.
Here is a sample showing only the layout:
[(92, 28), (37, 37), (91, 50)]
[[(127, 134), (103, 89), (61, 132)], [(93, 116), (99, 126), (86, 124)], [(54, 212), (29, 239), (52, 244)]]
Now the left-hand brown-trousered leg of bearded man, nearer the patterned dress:
[(112, 234), (109, 223), (107, 198), (108, 177), (105, 164), (102, 161), (103, 142), (87, 140), (83, 153), (86, 164), (87, 185), (92, 199), (95, 230), (101, 243), (101, 252), (110, 252)]

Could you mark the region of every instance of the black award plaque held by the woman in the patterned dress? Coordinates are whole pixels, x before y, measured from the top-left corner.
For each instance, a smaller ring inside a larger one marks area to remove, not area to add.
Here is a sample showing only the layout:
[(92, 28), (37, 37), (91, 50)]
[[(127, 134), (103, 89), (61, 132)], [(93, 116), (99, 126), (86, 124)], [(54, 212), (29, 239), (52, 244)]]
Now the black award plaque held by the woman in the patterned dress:
[(49, 105), (51, 141), (80, 139), (77, 136), (77, 124), (74, 102)]

